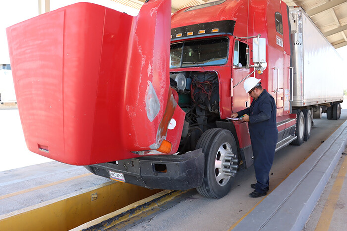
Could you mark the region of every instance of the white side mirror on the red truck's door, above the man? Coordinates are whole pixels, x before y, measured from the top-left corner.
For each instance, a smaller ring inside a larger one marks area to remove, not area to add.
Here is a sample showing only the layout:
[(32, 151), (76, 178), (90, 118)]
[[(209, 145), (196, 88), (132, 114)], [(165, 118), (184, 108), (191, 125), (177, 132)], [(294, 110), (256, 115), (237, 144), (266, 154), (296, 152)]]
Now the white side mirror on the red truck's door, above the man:
[(257, 70), (266, 69), (266, 40), (264, 38), (253, 38), (253, 62)]

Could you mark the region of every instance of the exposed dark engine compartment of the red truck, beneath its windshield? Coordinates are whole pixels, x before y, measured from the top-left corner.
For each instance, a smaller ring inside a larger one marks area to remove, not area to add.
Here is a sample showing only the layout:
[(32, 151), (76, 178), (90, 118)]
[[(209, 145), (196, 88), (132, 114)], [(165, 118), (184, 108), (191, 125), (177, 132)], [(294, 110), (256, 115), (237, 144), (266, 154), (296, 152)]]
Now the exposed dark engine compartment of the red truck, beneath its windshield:
[(193, 151), (202, 133), (220, 120), (218, 75), (214, 71), (170, 72), (170, 85), (186, 113), (178, 149), (183, 154)]

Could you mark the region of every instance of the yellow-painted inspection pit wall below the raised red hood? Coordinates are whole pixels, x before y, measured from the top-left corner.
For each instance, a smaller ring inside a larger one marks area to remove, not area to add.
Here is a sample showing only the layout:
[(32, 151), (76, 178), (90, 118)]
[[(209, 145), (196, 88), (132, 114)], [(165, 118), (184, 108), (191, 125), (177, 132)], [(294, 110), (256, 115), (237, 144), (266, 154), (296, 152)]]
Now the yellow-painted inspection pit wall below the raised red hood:
[(69, 230), (161, 190), (110, 181), (0, 216), (0, 230)]

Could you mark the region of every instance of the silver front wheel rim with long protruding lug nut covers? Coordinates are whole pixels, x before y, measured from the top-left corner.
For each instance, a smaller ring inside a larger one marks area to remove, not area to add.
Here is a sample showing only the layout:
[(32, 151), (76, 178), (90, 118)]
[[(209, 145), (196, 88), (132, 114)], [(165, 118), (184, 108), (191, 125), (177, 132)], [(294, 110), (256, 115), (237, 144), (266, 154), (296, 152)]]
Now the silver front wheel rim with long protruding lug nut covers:
[(215, 179), (219, 185), (226, 185), (230, 178), (235, 176), (237, 168), (233, 165), (234, 162), (237, 163), (237, 157), (233, 154), (231, 145), (223, 143), (215, 158)]

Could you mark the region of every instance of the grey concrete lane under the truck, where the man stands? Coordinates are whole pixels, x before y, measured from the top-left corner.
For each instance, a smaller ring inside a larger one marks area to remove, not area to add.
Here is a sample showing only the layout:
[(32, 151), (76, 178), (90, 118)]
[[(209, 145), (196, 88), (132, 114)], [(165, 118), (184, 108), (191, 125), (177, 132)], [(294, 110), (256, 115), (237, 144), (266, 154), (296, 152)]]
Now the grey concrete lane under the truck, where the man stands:
[[(325, 114), (323, 114), (325, 117)], [(339, 120), (314, 119), (311, 138), (301, 146), (289, 145), (275, 154), (270, 171), (270, 191), (279, 185), (293, 170), (347, 119), (347, 110), (342, 111)], [(222, 199), (209, 199), (199, 194), (177, 203), (154, 217), (145, 218), (139, 224), (126, 230), (228, 230), (264, 198), (249, 198), (255, 182), (253, 168), (237, 173), (235, 185)]]

